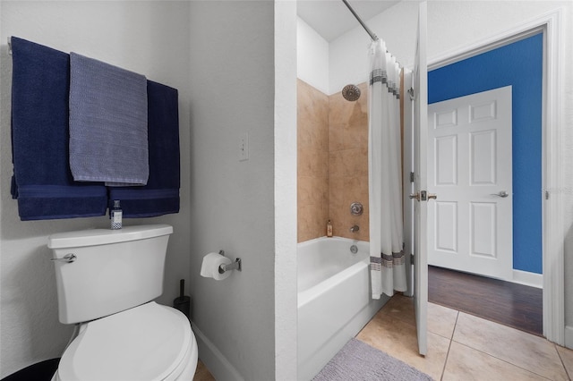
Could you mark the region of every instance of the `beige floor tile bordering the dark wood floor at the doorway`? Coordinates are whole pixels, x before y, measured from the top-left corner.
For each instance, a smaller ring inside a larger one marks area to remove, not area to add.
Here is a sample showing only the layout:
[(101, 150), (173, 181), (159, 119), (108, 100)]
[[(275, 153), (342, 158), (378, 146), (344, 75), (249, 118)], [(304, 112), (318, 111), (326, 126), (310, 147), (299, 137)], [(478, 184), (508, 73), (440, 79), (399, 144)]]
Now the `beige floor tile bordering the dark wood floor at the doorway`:
[(460, 312), (453, 341), (552, 380), (567, 380), (555, 345), (542, 337)]

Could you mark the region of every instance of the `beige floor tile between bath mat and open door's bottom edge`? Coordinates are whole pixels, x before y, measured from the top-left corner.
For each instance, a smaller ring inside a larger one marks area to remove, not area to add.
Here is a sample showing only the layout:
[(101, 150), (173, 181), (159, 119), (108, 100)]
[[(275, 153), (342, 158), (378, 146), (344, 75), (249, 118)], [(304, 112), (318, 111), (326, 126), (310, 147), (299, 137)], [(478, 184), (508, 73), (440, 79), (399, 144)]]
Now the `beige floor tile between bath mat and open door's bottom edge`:
[(385, 351), (434, 379), (441, 377), (449, 347), (448, 339), (429, 332), (428, 354), (425, 357), (420, 356), (415, 326), (395, 316), (381, 313), (363, 328), (356, 339)]

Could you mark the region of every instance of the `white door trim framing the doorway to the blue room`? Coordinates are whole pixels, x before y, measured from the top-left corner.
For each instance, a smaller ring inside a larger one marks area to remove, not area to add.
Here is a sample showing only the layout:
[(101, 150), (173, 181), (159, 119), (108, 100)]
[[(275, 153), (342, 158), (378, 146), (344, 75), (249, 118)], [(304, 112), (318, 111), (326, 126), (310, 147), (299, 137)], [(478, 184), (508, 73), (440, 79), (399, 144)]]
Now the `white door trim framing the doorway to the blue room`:
[(428, 60), (428, 71), (479, 55), (496, 47), (529, 37), (543, 30), (543, 335), (550, 341), (565, 343), (564, 227), (561, 206), (562, 167), (560, 165), (560, 54), (561, 9), (544, 13), (515, 28), (450, 50)]

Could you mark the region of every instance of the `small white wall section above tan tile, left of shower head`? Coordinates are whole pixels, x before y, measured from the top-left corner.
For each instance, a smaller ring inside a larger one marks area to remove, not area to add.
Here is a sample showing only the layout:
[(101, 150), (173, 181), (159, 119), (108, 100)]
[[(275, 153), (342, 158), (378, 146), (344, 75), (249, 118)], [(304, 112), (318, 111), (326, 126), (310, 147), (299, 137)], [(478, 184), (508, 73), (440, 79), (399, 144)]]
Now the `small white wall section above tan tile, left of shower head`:
[(329, 93), (329, 43), (303, 19), (296, 19), (297, 77), (313, 88)]

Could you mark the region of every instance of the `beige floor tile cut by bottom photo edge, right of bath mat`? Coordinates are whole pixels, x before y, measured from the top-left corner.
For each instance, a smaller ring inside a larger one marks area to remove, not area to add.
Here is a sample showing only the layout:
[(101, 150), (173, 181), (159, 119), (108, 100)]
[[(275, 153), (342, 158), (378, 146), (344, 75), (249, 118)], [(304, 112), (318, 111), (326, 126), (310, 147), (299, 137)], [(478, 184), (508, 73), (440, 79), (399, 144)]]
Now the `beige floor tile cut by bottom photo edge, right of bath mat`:
[(448, 362), (441, 379), (443, 381), (546, 380), (535, 373), (456, 342), (451, 343), (449, 347)]

